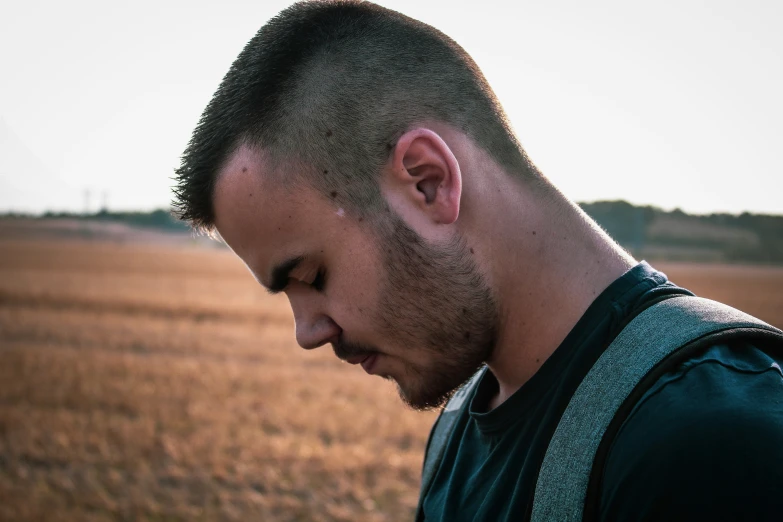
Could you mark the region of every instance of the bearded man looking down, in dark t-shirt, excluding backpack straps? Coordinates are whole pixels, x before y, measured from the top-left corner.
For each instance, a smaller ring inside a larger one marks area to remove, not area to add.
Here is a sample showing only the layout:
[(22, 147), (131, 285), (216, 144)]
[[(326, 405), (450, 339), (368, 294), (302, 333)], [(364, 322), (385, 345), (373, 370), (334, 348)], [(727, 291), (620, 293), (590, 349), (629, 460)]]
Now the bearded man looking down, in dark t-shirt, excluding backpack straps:
[[(305, 349), (442, 406), (483, 365), (421, 503), (524, 520), (552, 433), (601, 352), (654, 301), (637, 263), (536, 169), (471, 58), (370, 3), (299, 3), (248, 43), (177, 171), (175, 205), (272, 292)], [(639, 400), (605, 456), (600, 520), (771, 520), (779, 354), (709, 346)]]

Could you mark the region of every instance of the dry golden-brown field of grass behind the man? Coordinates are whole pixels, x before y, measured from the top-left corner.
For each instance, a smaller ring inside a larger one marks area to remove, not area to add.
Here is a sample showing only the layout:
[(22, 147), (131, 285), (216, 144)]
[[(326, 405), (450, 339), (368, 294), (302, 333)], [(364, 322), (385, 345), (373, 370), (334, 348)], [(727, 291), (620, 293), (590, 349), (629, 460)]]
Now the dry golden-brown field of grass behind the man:
[[(0, 239), (0, 519), (411, 518), (434, 414), (219, 249)], [(783, 269), (663, 265), (783, 324)]]

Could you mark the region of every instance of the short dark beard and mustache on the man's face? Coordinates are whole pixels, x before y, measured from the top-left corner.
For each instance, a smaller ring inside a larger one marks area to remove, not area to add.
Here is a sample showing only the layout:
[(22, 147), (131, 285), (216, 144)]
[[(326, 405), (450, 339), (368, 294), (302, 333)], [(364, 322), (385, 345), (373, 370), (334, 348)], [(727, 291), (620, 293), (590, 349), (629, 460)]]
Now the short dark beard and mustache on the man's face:
[[(399, 216), (390, 216), (377, 235), (385, 278), (375, 324), (396, 346), (427, 355), (428, 363), (406, 363), (394, 380), (408, 406), (433, 409), (489, 359), (498, 307), (462, 237), (431, 245)], [(379, 352), (343, 342), (334, 348), (338, 355)]]

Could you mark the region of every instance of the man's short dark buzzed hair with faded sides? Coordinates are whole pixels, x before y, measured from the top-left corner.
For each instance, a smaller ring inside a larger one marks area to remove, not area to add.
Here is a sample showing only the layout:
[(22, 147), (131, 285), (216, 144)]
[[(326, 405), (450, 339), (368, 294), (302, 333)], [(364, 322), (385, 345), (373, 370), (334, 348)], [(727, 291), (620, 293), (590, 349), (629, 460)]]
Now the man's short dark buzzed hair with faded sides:
[(175, 214), (214, 229), (217, 173), (243, 144), (297, 165), (286, 182), (372, 212), (396, 140), (428, 120), (541, 181), (478, 66), (448, 36), (369, 2), (296, 3), (248, 42), (204, 110), (176, 171)]

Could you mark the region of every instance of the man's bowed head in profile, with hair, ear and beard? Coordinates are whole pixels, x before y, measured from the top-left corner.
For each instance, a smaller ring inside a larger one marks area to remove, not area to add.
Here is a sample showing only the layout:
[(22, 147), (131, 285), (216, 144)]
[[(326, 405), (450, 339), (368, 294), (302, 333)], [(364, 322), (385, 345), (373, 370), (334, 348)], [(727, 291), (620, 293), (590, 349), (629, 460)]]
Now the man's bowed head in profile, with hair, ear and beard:
[(490, 357), (499, 329), (457, 224), (461, 169), (478, 178), (482, 161), (545, 185), (456, 43), (373, 4), (301, 3), (226, 75), (175, 206), (286, 292), (302, 347), (331, 343), (426, 408)]

